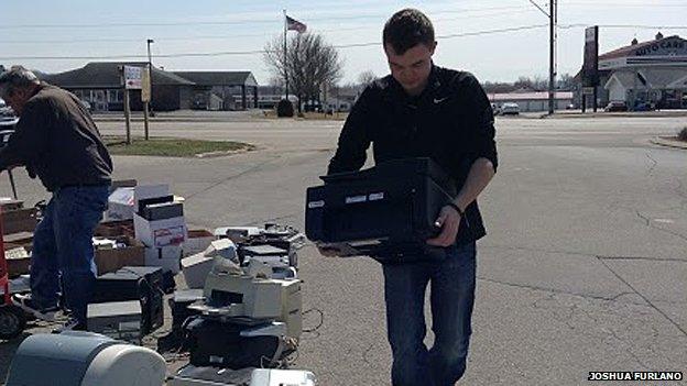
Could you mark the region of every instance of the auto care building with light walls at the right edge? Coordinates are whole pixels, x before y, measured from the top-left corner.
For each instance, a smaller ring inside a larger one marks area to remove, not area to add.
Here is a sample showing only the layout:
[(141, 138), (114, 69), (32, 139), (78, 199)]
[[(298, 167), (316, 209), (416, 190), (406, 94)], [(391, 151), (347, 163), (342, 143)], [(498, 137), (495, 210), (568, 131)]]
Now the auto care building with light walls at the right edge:
[(600, 107), (624, 101), (630, 109), (687, 109), (687, 41), (661, 33), (647, 42), (635, 38), (599, 56), (599, 77)]

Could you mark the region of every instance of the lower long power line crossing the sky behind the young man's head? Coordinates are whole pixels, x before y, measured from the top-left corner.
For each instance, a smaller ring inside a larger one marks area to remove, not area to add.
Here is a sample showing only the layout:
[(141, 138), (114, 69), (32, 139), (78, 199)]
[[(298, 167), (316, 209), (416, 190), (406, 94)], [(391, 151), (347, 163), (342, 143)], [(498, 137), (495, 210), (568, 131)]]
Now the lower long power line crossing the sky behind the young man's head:
[[(439, 35), (436, 36), (437, 40), (445, 38), (454, 38), (454, 37), (465, 37), (465, 36), (478, 36), (478, 35), (488, 35), (488, 34), (498, 34), (505, 32), (516, 32), (516, 31), (526, 31), (526, 30), (535, 30), (546, 27), (548, 24), (534, 24), (534, 25), (522, 25), (514, 26), (508, 29), (498, 29), (498, 30), (484, 30), (484, 31), (476, 31), (476, 32), (465, 32), (457, 34), (448, 34), (448, 35)], [(355, 47), (368, 47), (368, 46), (381, 46), (381, 42), (369, 42), (369, 43), (355, 43), (355, 44), (342, 44), (335, 45), (335, 48), (355, 48)], [(178, 53), (178, 54), (161, 54), (155, 55), (155, 57), (160, 58), (170, 58), (170, 57), (208, 57), (208, 56), (229, 56), (229, 55), (255, 55), (255, 54), (264, 54), (266, 51), (227, 51), (227, 52), (215, 52), (215, 53)], [(0, 57), (2, 60), (97, 60), (97, 59), (135, 59), (135, 58), (148, 58), (146, 55), (107, 55), (107, 56), (9, 56), (9, 57)]]

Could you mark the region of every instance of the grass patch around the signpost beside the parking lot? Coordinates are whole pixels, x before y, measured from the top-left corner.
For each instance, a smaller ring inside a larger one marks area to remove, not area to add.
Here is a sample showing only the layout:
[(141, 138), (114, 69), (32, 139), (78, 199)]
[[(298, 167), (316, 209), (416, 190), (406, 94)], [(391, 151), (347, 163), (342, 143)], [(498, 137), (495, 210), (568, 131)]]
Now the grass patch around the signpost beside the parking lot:
[(162, 157), (195, 157), (200, 154), (225, 155), (229, 152), (250, 151), (254, 146), (242, 142), (201, 141), (171, 137), (132, 137), (127, 145), (123, 136), (105, 136), (105, 144), (112, 155), (153, 155)]

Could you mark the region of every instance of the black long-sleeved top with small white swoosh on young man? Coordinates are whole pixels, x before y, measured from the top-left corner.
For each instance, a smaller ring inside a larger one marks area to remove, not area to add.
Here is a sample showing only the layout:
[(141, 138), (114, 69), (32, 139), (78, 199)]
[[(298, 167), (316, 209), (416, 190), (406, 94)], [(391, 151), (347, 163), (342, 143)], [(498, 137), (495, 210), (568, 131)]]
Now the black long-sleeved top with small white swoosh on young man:
[[(498, 166), (494, 135), (491, 103), (471, 74), (434, 66), (427, 87), (415, 98), (389, 75), (368, 86), (353, 106), (328, 174), (360, 169), (372, 143), (375, 163), (430, 157), (460, 191), (477, 158)], [(466, 218), (458, 244), (487, 234), (477, 201), (466, 208)]]

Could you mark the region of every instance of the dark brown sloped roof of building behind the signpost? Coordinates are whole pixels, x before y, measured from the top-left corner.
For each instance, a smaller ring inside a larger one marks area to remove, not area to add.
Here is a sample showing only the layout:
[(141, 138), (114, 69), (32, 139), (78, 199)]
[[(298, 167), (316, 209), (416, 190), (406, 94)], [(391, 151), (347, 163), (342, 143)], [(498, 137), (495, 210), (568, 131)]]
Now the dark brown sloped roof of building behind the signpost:
[[(122, 65), (143, 67), (148, 62), (91, 62), (70, 71), (45, 75), (42, 80), (66, 88), (121, 88), (119, 67)], [(153, 67), (153, 85), (193, 86), (194, 82), (173, 73)]]

